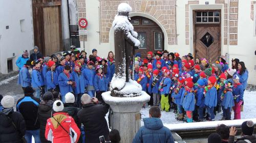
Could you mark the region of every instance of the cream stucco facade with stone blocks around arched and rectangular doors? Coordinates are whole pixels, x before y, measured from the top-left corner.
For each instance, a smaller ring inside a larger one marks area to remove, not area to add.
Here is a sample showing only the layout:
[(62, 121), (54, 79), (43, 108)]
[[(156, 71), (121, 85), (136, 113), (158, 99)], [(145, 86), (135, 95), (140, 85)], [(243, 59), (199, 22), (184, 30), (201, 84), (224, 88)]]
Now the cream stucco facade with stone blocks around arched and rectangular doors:
[[(120, 3), (128, 3), (133, 8), (131, 16), (142, 16), (156, 22), (164, 35), (164, 49), (179, 52), (180, 55), (194, 52), (193, 11), (221, 11), (221, 54), (245, 62), (249, 71), (248, 83), (256, 84), (256, 37), (255, 37), (255, 3), (256, 1), (209, 0), (205, 1), (86, 1), (78, 0), (78, 19), (87, 18), (88, 35), (80, 38), (85, 41), (86, 51), (91, 54), (98, 49), (101, 56), (107, 56), (114, 50), (114, 33), (112, 22)], [(80, 6), (80, 7), (79, 7)], [(253, 9), (254, 8), (254, 9)]]

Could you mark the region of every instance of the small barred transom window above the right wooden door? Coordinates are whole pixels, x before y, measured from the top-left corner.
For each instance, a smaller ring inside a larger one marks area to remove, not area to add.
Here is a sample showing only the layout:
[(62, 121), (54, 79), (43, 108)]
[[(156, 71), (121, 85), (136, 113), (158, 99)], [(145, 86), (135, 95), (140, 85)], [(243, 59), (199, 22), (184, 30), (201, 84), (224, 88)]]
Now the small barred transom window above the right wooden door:
[(197, 11), (196, 23), (220, 23), (219, 11)]

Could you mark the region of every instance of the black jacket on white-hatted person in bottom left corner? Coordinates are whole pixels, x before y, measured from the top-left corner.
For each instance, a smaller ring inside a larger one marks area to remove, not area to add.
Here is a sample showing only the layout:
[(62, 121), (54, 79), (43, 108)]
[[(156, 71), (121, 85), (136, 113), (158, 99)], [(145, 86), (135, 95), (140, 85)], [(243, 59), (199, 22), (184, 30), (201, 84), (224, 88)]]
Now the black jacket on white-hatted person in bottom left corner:
[[(7, 116), (10, 119), (7, 118)], [(13, 108), (4, 108), (2, 112), (0, 112), (0, 142), (23, 143), (22, 136), (24, 136), (25, 133), (26, 125), (22, 114), (15, 112)]]

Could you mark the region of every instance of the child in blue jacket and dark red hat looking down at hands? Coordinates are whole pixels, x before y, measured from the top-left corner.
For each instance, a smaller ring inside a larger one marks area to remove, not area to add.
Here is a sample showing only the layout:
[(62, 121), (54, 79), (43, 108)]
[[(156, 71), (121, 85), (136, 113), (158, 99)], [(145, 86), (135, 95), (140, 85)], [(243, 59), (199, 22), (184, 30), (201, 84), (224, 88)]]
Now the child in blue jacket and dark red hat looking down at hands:
[(73, 92), (72, 86), (74, 87), (75, 82), (73, 82), (73, 76), (70, 73), (71, 67), (69, 65), (65, 66), (62, 73), (59, 74), (58, 84), (61, 96), (61, 101), (66, 103), (65, 95), (69, 92)]

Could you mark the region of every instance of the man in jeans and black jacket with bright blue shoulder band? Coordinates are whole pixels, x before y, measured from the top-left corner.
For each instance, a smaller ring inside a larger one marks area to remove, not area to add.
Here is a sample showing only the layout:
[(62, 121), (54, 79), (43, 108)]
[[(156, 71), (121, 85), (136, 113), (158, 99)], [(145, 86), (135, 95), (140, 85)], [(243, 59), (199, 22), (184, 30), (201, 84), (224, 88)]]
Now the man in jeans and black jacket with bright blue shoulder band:
[(26, 87), (24, 90), (25, 97), (17, 101), (17, 111), (22, 113), (26, 122), (25, 138), (27, 142), (32, 141), (32, 136), (35, 138), (36, 143), (40, 143), (39, 134), (39, 120), (37, 120), (37, 111), (40, 100), (33, 96), (34, 90), (31, 87)]

